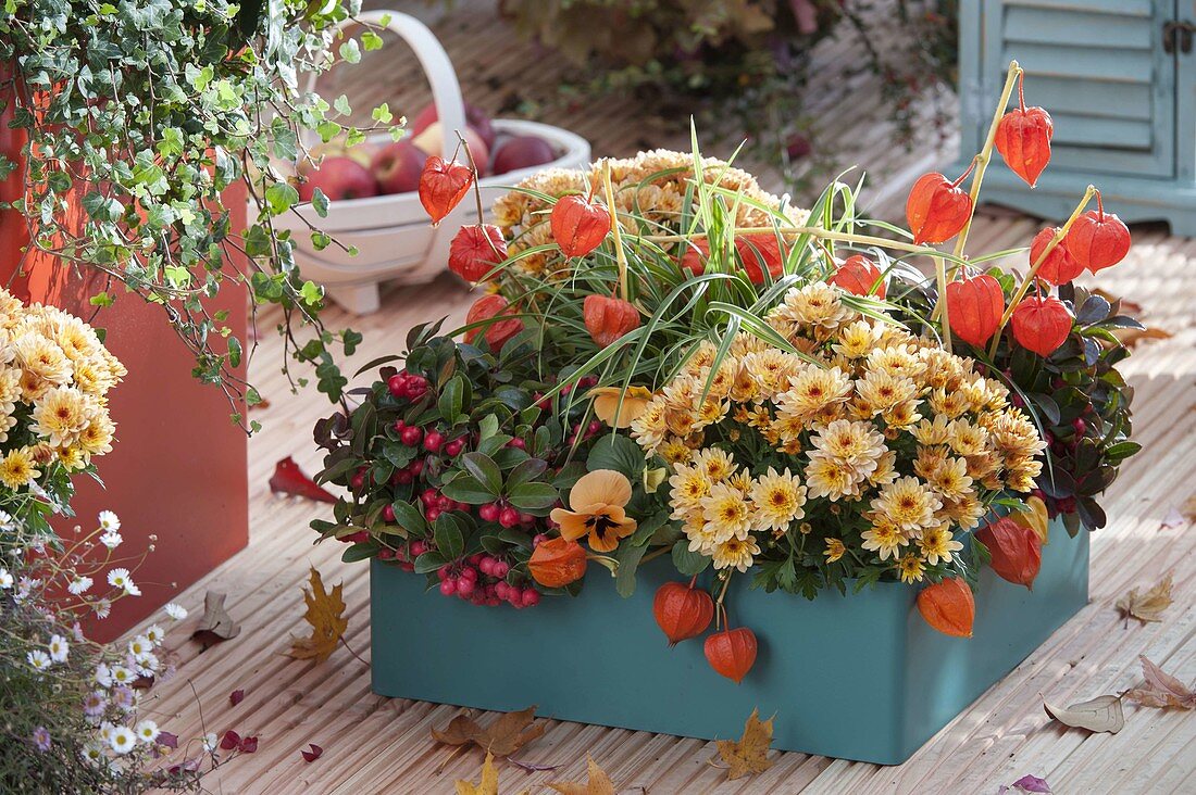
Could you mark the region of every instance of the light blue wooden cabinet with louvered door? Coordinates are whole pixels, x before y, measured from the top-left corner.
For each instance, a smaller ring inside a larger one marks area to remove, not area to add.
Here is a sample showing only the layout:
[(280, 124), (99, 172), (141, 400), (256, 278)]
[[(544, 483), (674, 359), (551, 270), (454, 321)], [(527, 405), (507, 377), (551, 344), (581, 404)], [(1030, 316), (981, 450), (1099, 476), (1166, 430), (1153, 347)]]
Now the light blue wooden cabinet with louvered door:
[(960, 4), (957, 173), (980, 151), (1014, 59), (1026, 104), (1055, 121), (1051, 163), (1033, 190), (994, 164), (986, 201), (1064, 219), (1091, 182), (1123, 220), (1196, 236), (1196, 0)]

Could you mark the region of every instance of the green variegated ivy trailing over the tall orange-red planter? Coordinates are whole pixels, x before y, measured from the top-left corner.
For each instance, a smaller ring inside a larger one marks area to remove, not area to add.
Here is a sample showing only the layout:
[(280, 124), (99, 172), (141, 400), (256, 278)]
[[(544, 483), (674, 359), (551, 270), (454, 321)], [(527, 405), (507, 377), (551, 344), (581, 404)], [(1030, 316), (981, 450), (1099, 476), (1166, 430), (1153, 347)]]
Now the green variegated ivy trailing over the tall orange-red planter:
[[(23, 183), (0, 212), (24, 215), (25, 256), (98, 273), (97, 307), (128, 292), (159, 305), (194, 354), (196, 378), (234, 406), (261, 398), (239, 374), (245, 341), (208, 308), (231, 285), (246, 287), (255, 317), (281, 312), (293, 385), (307, 381), (293, 362), (310, 366), (334, 400), (347, 385), (335, 356), (352, 354), (360, 335), (319, 319), (323, 289), (301, 277), (291, 232), (274, 226), (299, 203), (275, 164), (309, 157), (305, 133), (353, 142), (370, 132), (348, 123), (343, 97), (330, 104), (303, 87), (305, 73), (382, 45), (368, 27), (356, 38), (336, 32), (360, 5), (5, 0), (0, 8), (0, 114), (24, 137), (0, 153), (0, 179), (19, 172)], [(244, 230), (225, 203), (240, 200), (238, 184), (252, 200)], [(319, 191), (312, 203), (327, 212)], [(336, 245), (310, 233), (317, 247)]]

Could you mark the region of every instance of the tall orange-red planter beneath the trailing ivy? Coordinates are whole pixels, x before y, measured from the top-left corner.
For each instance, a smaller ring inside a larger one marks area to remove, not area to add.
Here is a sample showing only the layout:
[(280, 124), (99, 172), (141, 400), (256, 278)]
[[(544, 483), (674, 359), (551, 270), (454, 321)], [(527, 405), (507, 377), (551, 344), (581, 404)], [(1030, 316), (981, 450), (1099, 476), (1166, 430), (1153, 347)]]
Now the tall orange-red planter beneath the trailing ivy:
[[(0, 114), (0, 153), (17, 159), (23, 140)], [(0, 183), (0, 201), (19, 196), (20, 178)], [(227, 196), (233, 228), (245, 222), (244, 194)], [(89, 319), (108, 332), (108, 348), (128, 368), (124, 383), (110, 392), (117, 423), (112, 452), (97, 459), (99, 477), (77, 478), (73, 502), (84, 530), (104, 509), (121, 516), (126, 543), (140, 551), (150, 536), (155, 550), (134, 575), (142, 595), (123, 599), (103, 622), (89, 626), (97, 640), (110, 640), (152, 614), (179, 591), (245, 546), (249, 536), (246, 438), (230, 421), (232, 408), (220, 390), (191, 377), (190, 353), (166, 324), (160, 307), (134, 294), (109, 289), (112, 307), (92, 317), (87, 298), (103, 286), (86, 269), (75, 273), (59, 261), (25, 257), (24, 220), (0, 210), (0, 283), (26, 300), (42, 301)], [(212, 311), (228, 310), (228, 325), (245, 338), (246, 295), (225, 287)], [(243, 409), (242, 409), (243, 410)], [(66, 526), (69, 527), (67, 522)]]

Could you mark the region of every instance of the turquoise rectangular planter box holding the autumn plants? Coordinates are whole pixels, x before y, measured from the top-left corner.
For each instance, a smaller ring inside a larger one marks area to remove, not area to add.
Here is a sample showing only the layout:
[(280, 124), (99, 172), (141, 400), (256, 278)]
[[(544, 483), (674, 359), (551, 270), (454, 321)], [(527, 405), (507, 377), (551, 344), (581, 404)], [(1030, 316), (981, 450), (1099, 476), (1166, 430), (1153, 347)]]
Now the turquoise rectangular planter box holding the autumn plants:
[(594, 567), (579, 598), (517, 611), (446, 599), (374, 561), (374, 692), (702, 739), (738, 736), (758, 707), (776, 713), (774, 748), (898, 764), (1087, 603), (1088, 536), (1052, 524), (1033, 592), (986, 569), (971, 638), (930, 629), (916, 587), (808, 601), (736, 577), (732, 619), (759, 638), (739, 685), (710, 669), (701, 638), (667, 647), (652, 597), (677, 579), (671, 565), (639, 574), (629, 599)]

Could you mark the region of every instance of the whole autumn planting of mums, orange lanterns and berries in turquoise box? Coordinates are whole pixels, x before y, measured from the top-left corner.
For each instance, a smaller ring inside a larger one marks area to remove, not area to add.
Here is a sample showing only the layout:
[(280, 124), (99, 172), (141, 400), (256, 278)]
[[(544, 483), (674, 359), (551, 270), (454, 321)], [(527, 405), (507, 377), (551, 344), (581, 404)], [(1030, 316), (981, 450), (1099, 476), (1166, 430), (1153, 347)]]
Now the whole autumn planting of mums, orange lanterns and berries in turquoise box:
[[(1027, 182), (1049, 160), (1046, 111), (1005, 110), (1020, 77), (971, 166), (915, 183), (908, 234), (862, 219), (858, 186), (798, 209), (697, 152), (524, 181), (462, 232), (453, 270), (484, 283), (465, 325), (413, 331), (317, 426), (318, 479), (347, 494), (313, 527), (478, 605), (576, 595), (596, 567), (629, 595), (663, 558), (661, 642), (704, 635), (737, 681), (762, 629), (728, 610), (739, 575), (933, 588), (923, 614), (968, 636), (978, 569), (1032, 587), (1048, 516), (1103, 525), (1137, 450), (1112, 334), (1137, 324), (1072, 283), (1125, 253), (1098, 191), (1021, 275), (965, 251), (993, 152)], [(470, 184), (438, 169), (433, 219)]]

